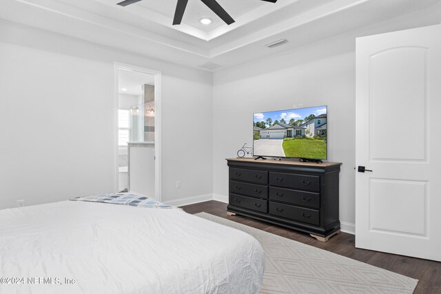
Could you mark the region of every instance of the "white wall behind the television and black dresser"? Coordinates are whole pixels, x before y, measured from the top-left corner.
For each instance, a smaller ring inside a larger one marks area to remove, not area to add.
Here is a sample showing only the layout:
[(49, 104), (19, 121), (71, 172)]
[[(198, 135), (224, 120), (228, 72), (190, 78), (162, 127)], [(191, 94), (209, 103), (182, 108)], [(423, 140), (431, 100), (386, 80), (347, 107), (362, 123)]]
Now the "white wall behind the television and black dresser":
[[(438, 6), (439, 7), (439, 6)], [(355, 39), (433, 23), (422, 10), (214, 74), (214, 198), (227, 201), (225, 158), (252, 144), (255, 112), (328, 105), (328, 160), (342, 162), (340, 221), (355, 230)], [(430, 16), (430, 17), (429, 17)], [(439, 18), (438, 18), (439, 19)], [(426, 23), (428, 22), (428, 23)]]

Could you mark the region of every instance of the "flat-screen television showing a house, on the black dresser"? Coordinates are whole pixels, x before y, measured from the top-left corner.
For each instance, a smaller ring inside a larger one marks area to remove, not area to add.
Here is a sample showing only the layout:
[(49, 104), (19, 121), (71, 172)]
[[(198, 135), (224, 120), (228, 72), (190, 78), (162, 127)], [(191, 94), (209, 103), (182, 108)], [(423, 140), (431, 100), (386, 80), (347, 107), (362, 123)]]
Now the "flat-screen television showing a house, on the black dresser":
[(327, 106), (258, 112), (253, 155), (327, 159)]

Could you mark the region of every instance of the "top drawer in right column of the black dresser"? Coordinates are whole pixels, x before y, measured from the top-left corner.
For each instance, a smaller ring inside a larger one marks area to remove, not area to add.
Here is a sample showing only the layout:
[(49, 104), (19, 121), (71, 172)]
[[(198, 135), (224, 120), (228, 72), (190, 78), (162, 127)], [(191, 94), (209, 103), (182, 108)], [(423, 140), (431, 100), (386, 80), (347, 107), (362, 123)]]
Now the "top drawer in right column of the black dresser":
[(300, 174), (275, 173), (270, 171), (269, 185), (292, 189), (320, 191), (320, 177)]

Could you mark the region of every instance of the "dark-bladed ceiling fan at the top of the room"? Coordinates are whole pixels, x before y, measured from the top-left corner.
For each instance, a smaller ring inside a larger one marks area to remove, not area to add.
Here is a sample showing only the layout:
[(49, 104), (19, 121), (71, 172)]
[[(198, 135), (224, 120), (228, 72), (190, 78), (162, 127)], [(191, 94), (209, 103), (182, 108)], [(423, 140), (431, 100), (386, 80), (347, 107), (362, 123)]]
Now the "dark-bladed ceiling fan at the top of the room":
[[(116, 3), (119, 6), (127, 6), (141, 0), (125, 0), (120, 3)], [(229, 14), (222, 8), (222, 6), (217, 3), (216, 0), (201, 0), (209, 9), (211, 9), (214, 13), (220, 17), (227, 25), (231, 25), (234, 23), (234, 19), (229, 16)], [(276, 3), (277, 0), (260, 0), (266, 2)], [(184, 16), (185, 7), (187, 6), (188, 0), (178, 0), (178, 4), (176, 5), (176, 10), (174, 12), (173, 25), (181, 24), (182, 17)]]

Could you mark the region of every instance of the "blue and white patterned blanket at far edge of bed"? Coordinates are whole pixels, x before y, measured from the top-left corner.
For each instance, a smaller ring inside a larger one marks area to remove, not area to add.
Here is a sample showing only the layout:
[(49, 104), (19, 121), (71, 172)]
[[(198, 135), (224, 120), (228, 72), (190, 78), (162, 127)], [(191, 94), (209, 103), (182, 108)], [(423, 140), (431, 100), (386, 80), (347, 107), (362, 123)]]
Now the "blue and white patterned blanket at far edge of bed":
[(87, 201), (87, 202), (103, 202), (110, 204), (123, 204), (136, 207), (150, 207), (150, 208), (166, 208), (166, 209), (178, 209), (172, 205), (163, 204), (153, 198), (149, 198), (144, 195), (132, 194), (132, 193), (113, 193), (113, 194), (97, 194), (87, 197), (75, 197), (70, 199), (72, 201)]

